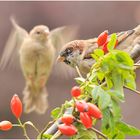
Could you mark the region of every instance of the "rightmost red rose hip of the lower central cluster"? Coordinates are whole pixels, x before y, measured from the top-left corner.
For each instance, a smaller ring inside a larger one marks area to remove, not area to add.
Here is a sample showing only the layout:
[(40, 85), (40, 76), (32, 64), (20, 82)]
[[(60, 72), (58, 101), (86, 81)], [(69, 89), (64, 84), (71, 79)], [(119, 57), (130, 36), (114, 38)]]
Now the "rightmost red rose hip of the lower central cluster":
[(100, 111), (100, 109), (92, 103), (87, 104), (88, 104), (88, 114), (96, 119), (101, 119), (102, 112)]

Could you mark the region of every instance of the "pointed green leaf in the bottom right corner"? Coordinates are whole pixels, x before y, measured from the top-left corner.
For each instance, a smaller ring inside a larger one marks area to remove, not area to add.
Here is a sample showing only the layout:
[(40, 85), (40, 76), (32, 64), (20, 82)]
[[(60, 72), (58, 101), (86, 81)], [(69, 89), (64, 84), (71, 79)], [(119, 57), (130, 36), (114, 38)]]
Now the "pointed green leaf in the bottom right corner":
[(127, 134), (127, 135), (130, 135), (130, 136), (140, 135), (140, 129), (137, 129), (136, 127), (128, 125), (124, 122), (118, 122), (116, 124), (116, 127), (119, 131), (121, 131), (121, 132), (123, 132), (124, 134)]

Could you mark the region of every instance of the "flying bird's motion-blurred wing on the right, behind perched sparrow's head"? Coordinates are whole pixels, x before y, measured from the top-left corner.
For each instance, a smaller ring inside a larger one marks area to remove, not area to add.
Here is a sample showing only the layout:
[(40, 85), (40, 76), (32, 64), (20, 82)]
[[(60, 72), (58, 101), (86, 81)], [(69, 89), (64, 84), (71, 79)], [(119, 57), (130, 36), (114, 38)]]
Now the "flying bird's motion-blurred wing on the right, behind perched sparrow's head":
[[(56, 58), (58, 57), (61, 48), (68, 42), (75, 40), (78, 36), (77, 26), (63, 26), (53, 29), (50, 33), (51, 42), (56, 49)], [(55, 63), (54, 73), (57, 75), (63, 75), (64, 77), (69, 77), (74, 74), (73, 70), (61, 63)]]

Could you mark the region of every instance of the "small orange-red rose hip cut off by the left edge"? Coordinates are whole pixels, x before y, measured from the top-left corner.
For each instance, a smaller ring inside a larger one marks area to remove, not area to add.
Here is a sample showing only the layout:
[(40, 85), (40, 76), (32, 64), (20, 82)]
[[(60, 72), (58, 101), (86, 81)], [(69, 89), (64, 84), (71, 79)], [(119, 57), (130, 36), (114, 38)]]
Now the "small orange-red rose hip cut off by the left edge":
[(0, 130), (8, 131), (12, 128), (12, 123), (9, 121), (0, 122)]

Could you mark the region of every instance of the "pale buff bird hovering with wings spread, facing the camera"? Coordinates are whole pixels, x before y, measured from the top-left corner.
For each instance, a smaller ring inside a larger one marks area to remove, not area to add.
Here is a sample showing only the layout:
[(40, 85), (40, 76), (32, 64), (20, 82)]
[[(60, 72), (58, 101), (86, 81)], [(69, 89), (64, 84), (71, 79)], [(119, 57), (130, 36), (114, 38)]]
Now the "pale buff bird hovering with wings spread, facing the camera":
[(0, 67), (3, 69), (7, 64), (20, 60), (26, 80), (23, 91), (25, 112), (44, 113), (48, 107), (45, 84), (52, 71), (56, 50), (74, 39), (76, 32), (72, 26), (50, 32), (47, 26), (38, 25), (28, 33), (14, 19), (11, 21), (14, 29), (7, 41)]

